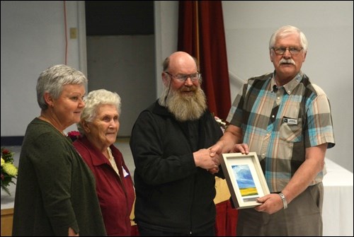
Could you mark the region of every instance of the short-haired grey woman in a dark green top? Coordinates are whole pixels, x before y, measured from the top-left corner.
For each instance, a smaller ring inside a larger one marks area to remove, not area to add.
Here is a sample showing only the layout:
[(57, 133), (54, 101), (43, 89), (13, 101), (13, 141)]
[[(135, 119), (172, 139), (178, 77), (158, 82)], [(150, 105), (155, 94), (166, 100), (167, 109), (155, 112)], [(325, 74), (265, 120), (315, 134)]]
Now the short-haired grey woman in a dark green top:
[(80, 121), (86, 76), (67, 65), (42, 71), (40, 116), (23, 139), (12, 236), (105, 236), (91, 170), (64, 129)]

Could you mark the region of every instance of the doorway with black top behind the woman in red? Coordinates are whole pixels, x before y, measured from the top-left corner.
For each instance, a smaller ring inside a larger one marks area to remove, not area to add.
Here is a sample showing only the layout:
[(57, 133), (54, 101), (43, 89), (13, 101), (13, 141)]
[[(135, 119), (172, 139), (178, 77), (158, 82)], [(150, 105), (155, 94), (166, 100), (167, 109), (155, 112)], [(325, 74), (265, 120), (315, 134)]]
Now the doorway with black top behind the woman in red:
[(154, 1), (85, 1), (88, 92), (122, 99), (118, 137), (156, 100)]

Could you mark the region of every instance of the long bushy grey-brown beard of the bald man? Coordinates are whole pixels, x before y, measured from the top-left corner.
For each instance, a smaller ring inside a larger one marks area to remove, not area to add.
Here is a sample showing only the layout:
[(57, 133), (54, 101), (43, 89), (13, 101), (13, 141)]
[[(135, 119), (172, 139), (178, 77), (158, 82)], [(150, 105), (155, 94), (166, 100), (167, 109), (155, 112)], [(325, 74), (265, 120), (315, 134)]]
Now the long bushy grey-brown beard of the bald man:
[(207, 109), (207, 100), (204, 91), (198, 87), (193, 96), (183, 96), (179, 91), (170, 91), (165, 106), (176, 120), (185, 122), (198, 120)]

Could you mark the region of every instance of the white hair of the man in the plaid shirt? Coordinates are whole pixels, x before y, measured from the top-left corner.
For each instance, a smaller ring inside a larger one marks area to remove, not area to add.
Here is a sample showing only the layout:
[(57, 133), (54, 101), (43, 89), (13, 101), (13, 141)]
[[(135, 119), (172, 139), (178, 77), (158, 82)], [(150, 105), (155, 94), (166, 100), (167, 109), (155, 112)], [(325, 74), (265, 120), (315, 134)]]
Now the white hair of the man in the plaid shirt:
[(292, 34), (299, 35), (301, 47), (303, 48), (304, 52), (307, 52), (307, 48), (309, 45), (306, 36), (304, 35), (304, 33), (302, 33), (301, 30), (299, 30), (299, 28), (296, 28), (295, 26), (292, 25), (284, 25), (278, 30), (276, 30), (275, 33), (273, 33), (273, 35), (270, 37), (269, 40), (269, 50), (271, 50), (274, 47), (275, 41), (278, 38), (286, 37), (287, 35), (292, 35)]

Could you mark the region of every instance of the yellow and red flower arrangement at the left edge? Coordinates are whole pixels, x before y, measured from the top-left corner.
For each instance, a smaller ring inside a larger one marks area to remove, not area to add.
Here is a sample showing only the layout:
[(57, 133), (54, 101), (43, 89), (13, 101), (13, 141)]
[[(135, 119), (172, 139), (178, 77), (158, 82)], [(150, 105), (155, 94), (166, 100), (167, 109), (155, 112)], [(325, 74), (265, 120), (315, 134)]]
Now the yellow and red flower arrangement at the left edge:
[(17, 167), (13, 165), (13, 154), (8, 149), (1, 148), (1, 189), (8, 195), (11, 195), (8, 185), (16, 184), (12, 178), (16, 179), (17, 176)]

